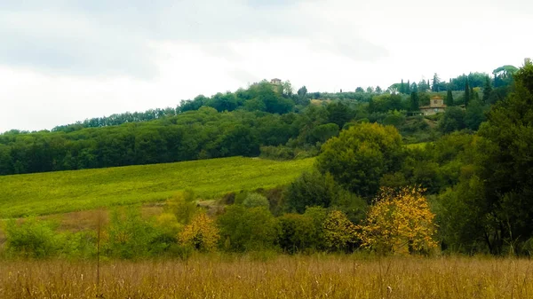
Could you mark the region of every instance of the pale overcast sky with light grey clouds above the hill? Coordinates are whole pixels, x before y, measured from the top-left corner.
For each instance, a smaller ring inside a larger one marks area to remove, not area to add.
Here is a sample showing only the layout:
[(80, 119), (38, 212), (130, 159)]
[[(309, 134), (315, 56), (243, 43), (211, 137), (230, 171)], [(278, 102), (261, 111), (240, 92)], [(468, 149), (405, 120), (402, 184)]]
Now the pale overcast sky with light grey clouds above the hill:
[(2, 0), (0, 132), (262, 79), (386, 88), (533, 57), (529, 0)]

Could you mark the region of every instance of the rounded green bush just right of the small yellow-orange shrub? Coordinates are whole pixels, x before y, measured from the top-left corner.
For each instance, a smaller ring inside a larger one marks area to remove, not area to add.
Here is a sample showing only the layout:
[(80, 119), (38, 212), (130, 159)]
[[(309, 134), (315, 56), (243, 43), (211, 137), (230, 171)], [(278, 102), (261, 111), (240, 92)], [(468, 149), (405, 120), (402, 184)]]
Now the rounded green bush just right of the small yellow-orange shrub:
[(264, 207), (246, 209), (242, 205), (227, 206), (217, 224), (220, 240), (229, 251), (274, 248), (279, 235), (277, 219)]

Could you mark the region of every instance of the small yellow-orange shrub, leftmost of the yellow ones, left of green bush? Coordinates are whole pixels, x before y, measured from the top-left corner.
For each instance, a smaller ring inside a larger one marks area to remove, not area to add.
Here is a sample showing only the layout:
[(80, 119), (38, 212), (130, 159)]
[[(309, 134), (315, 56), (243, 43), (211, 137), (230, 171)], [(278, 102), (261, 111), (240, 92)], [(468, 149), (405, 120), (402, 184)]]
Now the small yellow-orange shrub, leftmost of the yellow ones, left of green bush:
[(179, 232), (182, 244), (202, 251), (212, 251), (219, 239), (219, 228), (205, 213), (196, 214), (191, 223)]

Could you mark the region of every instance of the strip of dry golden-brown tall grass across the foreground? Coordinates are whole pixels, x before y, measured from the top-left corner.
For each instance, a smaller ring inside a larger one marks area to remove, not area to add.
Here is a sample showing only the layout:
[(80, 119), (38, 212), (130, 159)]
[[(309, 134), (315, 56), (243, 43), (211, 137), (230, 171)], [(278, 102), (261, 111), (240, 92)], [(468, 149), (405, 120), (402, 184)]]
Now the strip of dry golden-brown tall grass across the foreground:
[(280, 256), (188, 261), (0, 262), (0, 298), (531, 298), (533, 262)]

